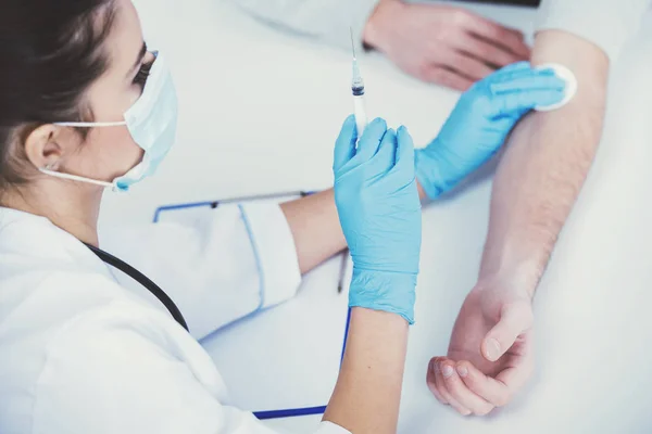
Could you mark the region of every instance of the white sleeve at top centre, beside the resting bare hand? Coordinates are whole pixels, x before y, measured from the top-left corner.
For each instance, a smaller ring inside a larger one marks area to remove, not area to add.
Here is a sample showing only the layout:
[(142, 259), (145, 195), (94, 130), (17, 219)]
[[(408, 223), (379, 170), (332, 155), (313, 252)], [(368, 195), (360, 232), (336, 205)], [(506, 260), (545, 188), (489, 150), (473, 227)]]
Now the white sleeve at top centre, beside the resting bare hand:
[(379, 0), (231, 0), (250, 15), (273, 26), (358, 50), (369, 16)]

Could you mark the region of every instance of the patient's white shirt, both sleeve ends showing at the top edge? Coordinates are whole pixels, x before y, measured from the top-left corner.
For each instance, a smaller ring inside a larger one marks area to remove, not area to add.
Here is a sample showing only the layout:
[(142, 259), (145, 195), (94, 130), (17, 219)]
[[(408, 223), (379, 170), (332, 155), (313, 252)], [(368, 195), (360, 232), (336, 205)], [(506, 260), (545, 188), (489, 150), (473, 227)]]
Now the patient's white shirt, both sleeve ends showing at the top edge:
[[(350, 49), (349, 27), (362, 49), (364, 27), (379, 0), (231, 0), (253, 16)], [(406, 0), (427, 3), (427, 0)], [(455, 5), (452, 1), (439, 1)], [(595, 43), (613, 60), (636, 33), (650, 0), (541, 0), (537, 29), (555, 28)]]

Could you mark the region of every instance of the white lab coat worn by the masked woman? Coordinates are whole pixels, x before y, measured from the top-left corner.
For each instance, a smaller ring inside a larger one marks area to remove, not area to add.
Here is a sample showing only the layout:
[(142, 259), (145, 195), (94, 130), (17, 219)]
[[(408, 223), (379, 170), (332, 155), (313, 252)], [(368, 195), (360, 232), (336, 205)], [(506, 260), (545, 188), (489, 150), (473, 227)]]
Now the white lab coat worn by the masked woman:
[[(196, 339), (300, 282), (276, 205), (112, 230), (101, 245), (159, 283)], [(0, 433), (272, 433), (228, 406), (201, 345), (127, 280), (48, 219), (0, 207)]]

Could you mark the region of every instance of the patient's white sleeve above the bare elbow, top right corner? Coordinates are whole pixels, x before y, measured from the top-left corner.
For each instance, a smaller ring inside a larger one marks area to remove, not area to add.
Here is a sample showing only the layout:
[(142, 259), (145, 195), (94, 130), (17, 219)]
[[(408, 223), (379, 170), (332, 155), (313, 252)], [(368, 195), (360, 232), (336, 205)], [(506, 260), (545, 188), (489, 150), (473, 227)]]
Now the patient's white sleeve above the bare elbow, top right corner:
[(638, 30), (650, 0), (541, 0), (537, 30), (565, 30), (595, 43), (613, 61)]

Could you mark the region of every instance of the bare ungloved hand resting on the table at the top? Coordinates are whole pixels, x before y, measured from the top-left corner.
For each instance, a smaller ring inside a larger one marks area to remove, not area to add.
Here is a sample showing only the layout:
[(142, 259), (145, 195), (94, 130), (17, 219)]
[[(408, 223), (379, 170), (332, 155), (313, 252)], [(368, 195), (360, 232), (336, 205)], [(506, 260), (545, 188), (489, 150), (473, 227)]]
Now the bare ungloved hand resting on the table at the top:
[(363, 37), (408, 74), (457, 90), (530, 55), (521, 31), (443, 4), (380, 0)]

